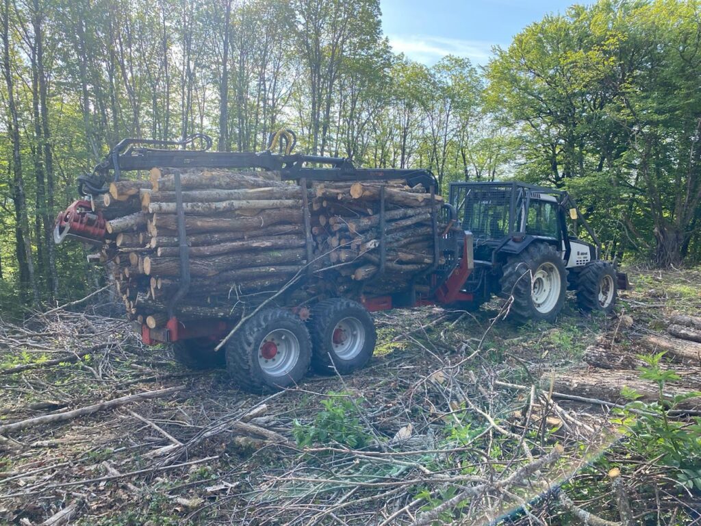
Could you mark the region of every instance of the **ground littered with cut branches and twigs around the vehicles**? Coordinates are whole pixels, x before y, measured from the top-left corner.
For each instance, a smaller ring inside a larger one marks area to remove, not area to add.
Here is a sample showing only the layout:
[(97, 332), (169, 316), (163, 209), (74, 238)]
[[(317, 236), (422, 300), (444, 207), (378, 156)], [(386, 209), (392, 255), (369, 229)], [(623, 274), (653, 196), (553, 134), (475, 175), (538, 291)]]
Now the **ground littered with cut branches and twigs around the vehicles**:
[[(700, 311), (699, 271), (631, 278), (616, 316), (567, 307), (552, 326), (516, 328), (496, 301), (378, 313), (365, 370), (264, 396), (142, 346), (95, 298), (3, 323), (0, 522), (692, 524), (701, 487), (626, 432), (651, 406), (556, 389), (641, 362), (641, 337)], [(583, 365), (592, 350), (612, 367)], [(669, 383), (698, 389), (698, 365), (665, 362)]]

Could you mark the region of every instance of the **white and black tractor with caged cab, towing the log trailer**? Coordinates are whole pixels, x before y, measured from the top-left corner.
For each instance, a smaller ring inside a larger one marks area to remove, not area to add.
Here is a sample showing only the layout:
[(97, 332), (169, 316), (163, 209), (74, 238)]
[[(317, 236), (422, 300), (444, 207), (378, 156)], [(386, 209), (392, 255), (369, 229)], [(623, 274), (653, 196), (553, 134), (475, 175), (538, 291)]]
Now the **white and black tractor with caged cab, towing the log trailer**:
[[(578, 292), (581, 309), (611, 311), (619, 285), (627, 287), (625, 274), (599, 259), (597, 236), (566, 191), (516, 181), (453, 182), (449, 201), (473, 240), (475, 271), (465, 292), (474, 300), (466, 308), (501, 295), (512, 299), (517, 321), (552, 321), (568, 288)], [(578, 237), (582, 227), (589, 241)]]

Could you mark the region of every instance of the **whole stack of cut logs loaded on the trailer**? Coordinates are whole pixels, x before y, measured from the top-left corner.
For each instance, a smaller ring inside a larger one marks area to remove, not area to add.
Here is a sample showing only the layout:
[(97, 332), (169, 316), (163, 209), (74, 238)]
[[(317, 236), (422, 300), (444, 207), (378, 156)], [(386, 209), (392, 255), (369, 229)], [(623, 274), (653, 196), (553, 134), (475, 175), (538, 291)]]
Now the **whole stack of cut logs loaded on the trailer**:
[(93, 202), (107, 220), (100, 261), (128, 315), (149, 328), (165, 325), (180, 286), (176, 171), (191, 273), (189, 291), (175, 309), (179, 318), (236, 318), (273, 296), (286, 306), (335, 295), (373, 297), (400, 292), (412, 280), (428, 290), (432, 218), (441, 198), (423, 187), (392, 180), (303, 189), (272, 172), (154, 168), (149, 180), (113, 182)]

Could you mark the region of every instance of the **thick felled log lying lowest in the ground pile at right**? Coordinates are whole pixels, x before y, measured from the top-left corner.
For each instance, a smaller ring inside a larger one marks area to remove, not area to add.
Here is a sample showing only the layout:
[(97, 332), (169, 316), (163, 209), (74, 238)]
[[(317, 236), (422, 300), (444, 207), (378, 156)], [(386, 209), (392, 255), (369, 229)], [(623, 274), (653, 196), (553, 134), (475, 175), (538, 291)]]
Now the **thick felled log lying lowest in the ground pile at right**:
[[(697, 390), (701, 382), (701, 369), (695, 369), (683, 377), (684, 383), (673, 382), (665, 386), (663, 396), (669, 399)], [(543, 389), (550, 389), (550, 377), (542, 379)], [(622, 396), (623, 387), (633, 389), (641, 395), (640, 400), (653, 402), (658, 400), (658, 386), (640, 378), (637, 370), (604, 370), (598, 368), (576, 368), (556, 373), (554, 391), (585, 398), (604, 400), (609, 403), (625, 404)], [(677, 406), (681, 410), (701, 410), (701, 397), (688, 398)]]

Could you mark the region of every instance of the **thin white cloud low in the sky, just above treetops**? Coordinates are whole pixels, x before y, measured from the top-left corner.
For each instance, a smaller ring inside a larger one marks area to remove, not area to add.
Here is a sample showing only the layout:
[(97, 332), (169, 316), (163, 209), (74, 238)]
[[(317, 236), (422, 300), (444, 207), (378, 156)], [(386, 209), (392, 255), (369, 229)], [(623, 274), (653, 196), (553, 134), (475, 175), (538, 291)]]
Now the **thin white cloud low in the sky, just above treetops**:
[(475, 65), (486, 65), (494, 42), (447, 39), (441, 36), (388, 34), (395, 53), (404, 53), (411, 60), (433, 65), (445, 55), (467, 57)]

